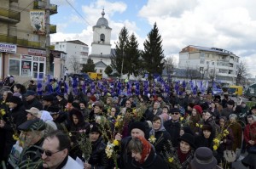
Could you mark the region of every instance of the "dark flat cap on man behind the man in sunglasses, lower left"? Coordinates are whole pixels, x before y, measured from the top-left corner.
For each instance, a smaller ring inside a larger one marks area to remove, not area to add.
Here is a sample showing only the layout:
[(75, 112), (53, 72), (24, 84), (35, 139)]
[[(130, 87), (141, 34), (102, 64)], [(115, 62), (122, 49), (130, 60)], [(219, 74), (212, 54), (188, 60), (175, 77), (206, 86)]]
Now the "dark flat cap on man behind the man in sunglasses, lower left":
[(20, 126), (18, 127), (18, 130), (21, 131), (43, 131), (44, 129), (45, 123), (40, 119), (28, 120), (20, 124)]

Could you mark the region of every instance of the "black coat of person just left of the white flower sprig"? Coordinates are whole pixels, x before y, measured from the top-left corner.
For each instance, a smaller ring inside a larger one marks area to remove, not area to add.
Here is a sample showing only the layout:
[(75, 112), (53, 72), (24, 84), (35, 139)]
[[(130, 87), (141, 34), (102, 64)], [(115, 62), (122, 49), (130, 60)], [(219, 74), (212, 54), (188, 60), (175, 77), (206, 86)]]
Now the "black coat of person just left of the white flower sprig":
[(109, 167), (108, 157), (105, 153), (106, 144), (104, 144), (102, 137), (98, 138), (96, 142), (92, 143), (92, 152), (88, 163), (91, 168), (106, 169)]

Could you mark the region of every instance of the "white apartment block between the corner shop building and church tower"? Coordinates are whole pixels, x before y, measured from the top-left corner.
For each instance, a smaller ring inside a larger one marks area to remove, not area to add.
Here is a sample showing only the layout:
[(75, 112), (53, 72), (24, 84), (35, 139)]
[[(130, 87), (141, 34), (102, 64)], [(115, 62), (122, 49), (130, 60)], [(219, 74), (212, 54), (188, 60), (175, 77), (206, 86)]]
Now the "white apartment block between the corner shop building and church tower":
[(79, 40), (55, 42), (55, 50), (67, 53), (65, 66), (68, 73), (79, 73), (87, 63), (89, 48), (84, 42)]

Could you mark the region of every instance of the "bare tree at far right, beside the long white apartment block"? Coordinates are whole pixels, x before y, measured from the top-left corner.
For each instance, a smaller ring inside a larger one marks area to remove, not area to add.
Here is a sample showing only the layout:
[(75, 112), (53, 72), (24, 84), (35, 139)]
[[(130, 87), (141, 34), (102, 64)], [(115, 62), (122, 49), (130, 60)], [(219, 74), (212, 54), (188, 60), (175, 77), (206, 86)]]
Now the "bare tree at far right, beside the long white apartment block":
[(236, 85), (242, 85), (242, 86), (246, 85), (247, 76), (249, 76), (247, 65), (241, 61), (238, 65)]

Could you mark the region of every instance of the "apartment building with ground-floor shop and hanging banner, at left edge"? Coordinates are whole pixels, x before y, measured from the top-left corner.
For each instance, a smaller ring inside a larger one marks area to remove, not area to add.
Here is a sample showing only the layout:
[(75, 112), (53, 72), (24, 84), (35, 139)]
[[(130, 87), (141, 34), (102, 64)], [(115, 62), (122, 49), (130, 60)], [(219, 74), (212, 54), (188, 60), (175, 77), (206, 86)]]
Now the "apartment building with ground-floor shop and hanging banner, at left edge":
[[(18, 82), (43, 78), (46, 73), (47, 14), (57, 14), (49, 0), (0, 1), (0, 79), (15, 76)], [(49, 25), (49, 33), (56, 25)], [(52, 62), (54, 59), (51, 59)]]

